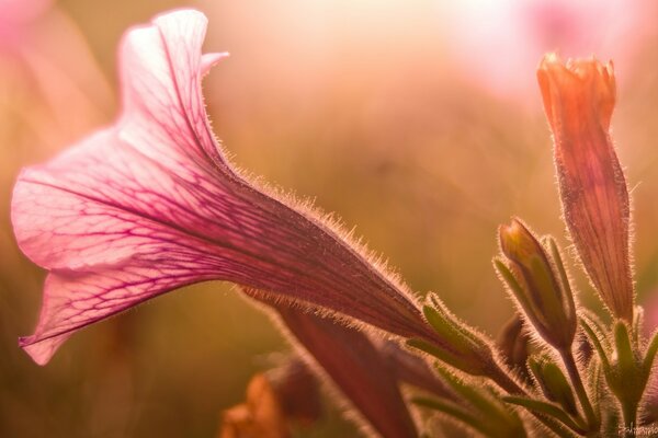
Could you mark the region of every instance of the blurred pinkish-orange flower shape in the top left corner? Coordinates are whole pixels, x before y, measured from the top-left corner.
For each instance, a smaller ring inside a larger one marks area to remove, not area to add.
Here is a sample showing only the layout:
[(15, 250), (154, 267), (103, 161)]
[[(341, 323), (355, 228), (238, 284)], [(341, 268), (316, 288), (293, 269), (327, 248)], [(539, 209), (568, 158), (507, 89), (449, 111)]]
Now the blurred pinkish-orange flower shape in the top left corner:
[(18, 117), (0, 126), (14, 148), (58, 148), (104, 122), (113, 103), (83, 35), (50, 3), (0, 0), (0, 105)]

